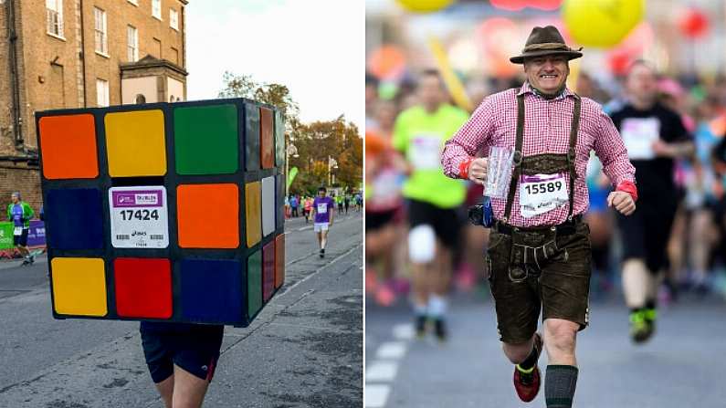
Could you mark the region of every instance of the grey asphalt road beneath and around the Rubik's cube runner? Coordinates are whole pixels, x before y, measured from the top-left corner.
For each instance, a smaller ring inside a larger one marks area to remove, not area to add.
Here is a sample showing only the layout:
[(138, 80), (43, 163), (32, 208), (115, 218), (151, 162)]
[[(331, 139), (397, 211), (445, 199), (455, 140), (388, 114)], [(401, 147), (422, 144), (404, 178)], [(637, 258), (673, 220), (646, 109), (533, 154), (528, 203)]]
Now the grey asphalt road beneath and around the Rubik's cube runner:
[[(208, 407), (363, 405), (363, 222), (286, 223), (286, 283), (246, 329), (226, 327)], [(163, 407), (137, 322), (51, 316), (47, 261), (0, 264), (0, 407)]]

